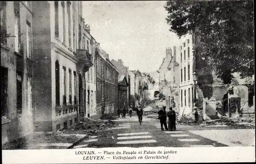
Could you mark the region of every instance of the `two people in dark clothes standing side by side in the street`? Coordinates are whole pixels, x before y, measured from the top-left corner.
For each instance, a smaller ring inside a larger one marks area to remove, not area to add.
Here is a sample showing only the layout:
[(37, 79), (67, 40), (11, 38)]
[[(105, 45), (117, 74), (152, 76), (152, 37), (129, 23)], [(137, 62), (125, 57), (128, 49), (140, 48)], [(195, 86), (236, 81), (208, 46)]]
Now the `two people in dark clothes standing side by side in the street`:
[[(160, 120), (161, 130), (169, 130), (175, 131), (176, 130), (176, 113), (173, 110), (173, 107), (169, 107), (169, 111), (166, 113), (166, 106), (158, 112), (158, 119)], [(166, 117), (168, 117), (168, 127), (166, 123)], [(164, 126), (164, 128), (163, 128)]]

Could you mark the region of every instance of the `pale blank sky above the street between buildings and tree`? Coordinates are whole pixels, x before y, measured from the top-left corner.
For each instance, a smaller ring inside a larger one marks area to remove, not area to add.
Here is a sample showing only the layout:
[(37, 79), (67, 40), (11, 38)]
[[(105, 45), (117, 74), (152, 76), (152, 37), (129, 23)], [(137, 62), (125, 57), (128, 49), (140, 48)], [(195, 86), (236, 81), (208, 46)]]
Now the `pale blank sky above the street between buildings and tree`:
[(166, 1), (87, 1), (83, 18), (91, 35), (109, 54), (121, 59), (129, 70), (159, 69), (166, 47), (178, 39), (169, 32)]

